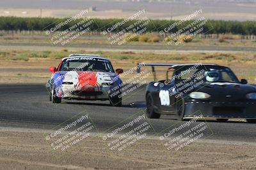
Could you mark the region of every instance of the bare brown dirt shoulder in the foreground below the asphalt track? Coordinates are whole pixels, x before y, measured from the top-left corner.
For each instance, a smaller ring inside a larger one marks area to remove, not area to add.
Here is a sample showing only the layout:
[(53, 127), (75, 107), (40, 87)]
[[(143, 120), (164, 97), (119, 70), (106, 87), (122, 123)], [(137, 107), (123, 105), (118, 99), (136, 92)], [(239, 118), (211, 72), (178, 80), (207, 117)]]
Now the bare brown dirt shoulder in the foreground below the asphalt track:
[(254, 169), (256, 146), (195, 142), (166, 150), (163, 141), (143, 139), (113, 153), (106, 141), (88, 137), (55, 152), (43, 132), (0, 131), (0, 169)]

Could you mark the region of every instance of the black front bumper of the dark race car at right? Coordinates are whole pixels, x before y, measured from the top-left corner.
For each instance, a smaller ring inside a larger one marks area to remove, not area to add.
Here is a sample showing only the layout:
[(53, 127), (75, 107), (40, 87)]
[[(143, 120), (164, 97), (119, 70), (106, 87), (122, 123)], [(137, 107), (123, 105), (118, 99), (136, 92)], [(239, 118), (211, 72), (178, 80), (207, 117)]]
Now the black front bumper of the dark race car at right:
[(184, 118), (202, 115), (204, 118), (256, 118), (256, 101), (245, 102), (185, 102)]

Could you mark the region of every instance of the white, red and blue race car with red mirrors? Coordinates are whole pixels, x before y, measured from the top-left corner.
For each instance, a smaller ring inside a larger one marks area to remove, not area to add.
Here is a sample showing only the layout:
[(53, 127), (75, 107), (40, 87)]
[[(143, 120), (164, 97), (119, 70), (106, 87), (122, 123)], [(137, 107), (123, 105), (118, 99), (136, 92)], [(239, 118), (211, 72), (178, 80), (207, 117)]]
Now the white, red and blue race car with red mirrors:
[(122, 106), (122, 80), (111, 62), (100, 55), (71, 54), (59, 66), (50, 67), (52, 76), (47, 83), (52, 103), (61, 99), (109, 100), (111, 106)]

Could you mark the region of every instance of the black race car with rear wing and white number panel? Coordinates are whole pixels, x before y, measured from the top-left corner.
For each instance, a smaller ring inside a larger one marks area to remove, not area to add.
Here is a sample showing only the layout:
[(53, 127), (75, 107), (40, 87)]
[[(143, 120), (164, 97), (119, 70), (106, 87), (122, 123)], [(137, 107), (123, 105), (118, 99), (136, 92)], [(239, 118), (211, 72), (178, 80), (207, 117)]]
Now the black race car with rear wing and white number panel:
[[(227, 121), (246, 118), (256, 123), (256, 87), (239, 81), (232, 70), (216, 64), (145, 64), (171, 66), (166, 80), (147, 85), (147, 117), (175, 115), (178, 120), (202, 116)], [(140, 69), (139, 69), (140, 71)]]

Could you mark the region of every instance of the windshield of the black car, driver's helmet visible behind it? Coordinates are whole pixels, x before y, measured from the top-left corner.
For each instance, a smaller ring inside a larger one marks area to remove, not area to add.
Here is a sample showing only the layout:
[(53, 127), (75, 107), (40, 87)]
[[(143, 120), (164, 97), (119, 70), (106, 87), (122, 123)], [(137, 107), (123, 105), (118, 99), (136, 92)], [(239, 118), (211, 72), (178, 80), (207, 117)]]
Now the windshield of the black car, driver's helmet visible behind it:
[(191, 69), (191, 66), (180, 67), (173, 74), (176, 81), (194, 80), (205, 82), (239, 83), (236, 75), (228, 67), (199, 66)]

